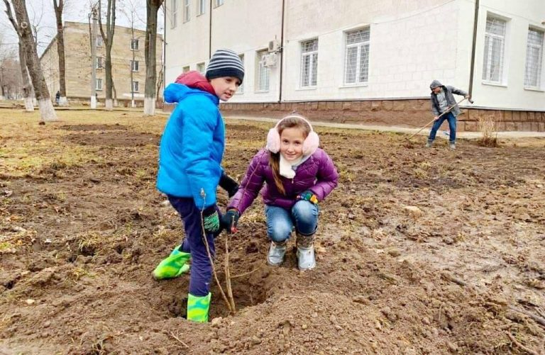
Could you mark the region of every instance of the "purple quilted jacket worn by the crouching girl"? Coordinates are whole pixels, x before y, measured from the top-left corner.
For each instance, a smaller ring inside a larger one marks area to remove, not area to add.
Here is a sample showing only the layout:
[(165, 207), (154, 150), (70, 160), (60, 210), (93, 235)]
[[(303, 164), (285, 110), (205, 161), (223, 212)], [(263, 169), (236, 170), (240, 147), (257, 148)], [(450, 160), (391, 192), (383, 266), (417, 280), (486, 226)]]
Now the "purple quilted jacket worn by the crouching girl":
[(309, 159), (297, 167), (293, 179), (283, 176), (280, 178), (286, 191), (285, 195), (276, 188), (269, 165), (269, 151), (261, 150), (253, 157), (241, 187), (231, 198), (227, 209), (236, 208), (241, 214), (244, 213), (258, 196), (263, 182), (267, 183), (262, 193), (265, 205), (292, 208), (297, 202), (297, 194), (306, 190), (311, 190), (318, 197), (318, 201), (322, 201), (337, 186), (338, 174), (329, 155), (318, 148)]

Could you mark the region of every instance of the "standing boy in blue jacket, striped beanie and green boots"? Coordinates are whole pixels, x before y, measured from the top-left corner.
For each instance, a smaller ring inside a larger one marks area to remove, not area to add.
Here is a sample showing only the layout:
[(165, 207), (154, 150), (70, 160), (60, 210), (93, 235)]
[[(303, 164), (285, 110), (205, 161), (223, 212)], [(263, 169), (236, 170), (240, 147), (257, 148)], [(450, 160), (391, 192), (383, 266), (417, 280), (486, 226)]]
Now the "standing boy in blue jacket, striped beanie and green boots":
[(163, 132), (159, 150), (157, 188), (165, 193), (184, 223), (185, 239), (155, 268), (157, 280), (175, 278), (187, 270), (192, 258), (187, 298), (187, 319), (207, 322), (212, 269), (203, 230), (214, 257), (214, 235), (220, 232), (216, 205), (218, 184), (232, 196), (238, 184), (224, 174), (221, 158), (225, 126), (219, 100), (228, 101), (244, 78), (243, 64), (231, 50), (217, 50), (206, 77), (187, 72), (165, 89), (165, 101), (177, 106)]

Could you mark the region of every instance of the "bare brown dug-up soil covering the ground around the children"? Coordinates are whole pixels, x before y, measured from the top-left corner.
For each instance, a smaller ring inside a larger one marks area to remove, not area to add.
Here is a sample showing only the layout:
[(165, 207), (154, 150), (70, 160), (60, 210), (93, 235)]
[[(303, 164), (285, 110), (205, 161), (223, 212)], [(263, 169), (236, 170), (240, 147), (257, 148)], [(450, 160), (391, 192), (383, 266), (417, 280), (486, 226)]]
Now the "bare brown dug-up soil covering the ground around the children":
[[(155, 190), (160, 127), (90, 122), (44, 128), (50, 144), (92, 152), (86, 164), (1, 181), (0, 352), (542, 351), (543, 147), (426, 150), (402, 135), (316, 128), (341, 176), (320, 205), (316, 269), (297, 271), (292, 240), (282, 266), (265, 264), (256, 201), (240, 232), (216, 240), (223, 283), (229, 238), (238, 312), (214, 284), (211, 322), (194, 324), (184, 319), (189, 278), (150, 276), (183, 237)], [(228, 122), (227, 173), (243, 176), (268, 128)]]

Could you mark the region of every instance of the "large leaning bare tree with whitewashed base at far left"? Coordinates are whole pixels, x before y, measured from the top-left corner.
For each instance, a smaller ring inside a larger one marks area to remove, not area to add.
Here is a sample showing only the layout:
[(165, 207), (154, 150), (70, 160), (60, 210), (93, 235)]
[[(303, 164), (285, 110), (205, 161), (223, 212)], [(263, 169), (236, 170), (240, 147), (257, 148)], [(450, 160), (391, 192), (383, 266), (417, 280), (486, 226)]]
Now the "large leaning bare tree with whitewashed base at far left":
[(9, 1), (4, 0), (4, 4), (6, 4), (6, 13), (8, 14), (9, 21), (13, 25), (13, 28), (15, 28), (23, 44), (22, 49), (25, 53), (26, 67), (31, 75), (35, 96), (38, 99), (38, 107), (40, 108), (40, 123), (45, 124), (45, 122), (57, 120), (48, 86), (45, 84), (42, 68), (40, 67), (40, 60), (38, 59), (36, 43), (31, 33), (31, 25), (28, 20), (25, 1), (11, 0), (17, 20), (13, 18)]

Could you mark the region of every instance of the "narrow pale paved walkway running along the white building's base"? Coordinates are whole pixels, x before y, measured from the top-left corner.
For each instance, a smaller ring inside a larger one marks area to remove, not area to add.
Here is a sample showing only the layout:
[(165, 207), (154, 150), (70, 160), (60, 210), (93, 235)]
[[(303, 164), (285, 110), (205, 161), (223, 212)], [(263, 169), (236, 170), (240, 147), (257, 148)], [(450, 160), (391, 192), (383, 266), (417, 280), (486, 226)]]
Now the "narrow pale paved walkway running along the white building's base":
[[(270, 122), (277, 123), (276, 118), (265, 118), (265, 117), (245, 117), (245, 116), (231, 116), (226, 115), (228, 120), (256, 120), (260, 122)], [(394, 133), (406, 133), (413, 135), (417, 133), (419, 128), (406, 128), (406, 127), (397, 127), (390, 125), (365, 125), (365, 124), (353, 124), (353, 123), (331, 123), (331, 122), (312, 122), (312, 125), (316, 127), (332, 127), (332, 128), (346, 128), (351, 130), (378, 130), (381, 132), (394, 132)], [(429, 135), (429, 128), (424, 128), (418, 135)], [(448, 138), (448, 136), (443, 134), (442, 130), (437, 132), (437, 137)], [(477, 139), (481, 137), (480, 132), (456, 132), (456, 138), (463, 139)], [(509, 131), (509, 132), (498, 132), (498, 138), (527, 138), (527, 137), (539, 137), (545, 138), (545, 132), (522, 132), (522, 131)]]

